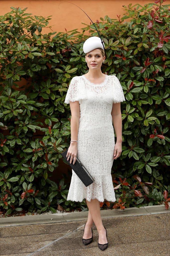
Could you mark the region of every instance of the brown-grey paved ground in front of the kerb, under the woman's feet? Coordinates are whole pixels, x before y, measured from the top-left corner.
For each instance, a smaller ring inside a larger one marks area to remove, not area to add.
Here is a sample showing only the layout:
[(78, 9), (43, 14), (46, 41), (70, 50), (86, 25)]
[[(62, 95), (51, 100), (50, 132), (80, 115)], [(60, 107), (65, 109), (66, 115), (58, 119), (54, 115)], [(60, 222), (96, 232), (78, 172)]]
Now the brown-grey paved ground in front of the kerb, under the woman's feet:
[(98, 248), (95, 225), (93, 242), (87, 246), (82, 243), (86, 220), (1, 227), (0, 255), (169, 256), (169, 212), (102, 218), (108, 232), (109, 246), (105, 251)]

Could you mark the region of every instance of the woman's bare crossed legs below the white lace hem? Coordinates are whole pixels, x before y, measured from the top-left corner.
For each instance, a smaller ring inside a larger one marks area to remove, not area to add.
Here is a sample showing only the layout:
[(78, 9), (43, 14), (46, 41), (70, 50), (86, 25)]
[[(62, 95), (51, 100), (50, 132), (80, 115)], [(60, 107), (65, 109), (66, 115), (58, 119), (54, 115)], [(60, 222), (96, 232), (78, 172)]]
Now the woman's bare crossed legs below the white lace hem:
[(85, 235), (83, 236), (83, 238), (88, 239), (91, 238), (91, 227), (93, 225), (92, 220), (94, 221), (97, 231), (99, 233), (99, 243), (104, 244), (107, 243), (107, 238), (106, 238), (106, 230), (103, 227), (103, 223), (101, 220), (101, 215), (100, 215), (100, 202), (97, 199), (91, 199), (91, 201), (87, 201), (86, 200), (86, 204), (88, 206), (88, 209), (90, 211), (90, 214), (88, 215), (88, 219), (86, 225), (87, 228), (85, 226), (84, 229), (84, 234), (86, 231), (86, 234), (88, 233), (88, 236), (86, 235), (87, 238), (85, 238)]

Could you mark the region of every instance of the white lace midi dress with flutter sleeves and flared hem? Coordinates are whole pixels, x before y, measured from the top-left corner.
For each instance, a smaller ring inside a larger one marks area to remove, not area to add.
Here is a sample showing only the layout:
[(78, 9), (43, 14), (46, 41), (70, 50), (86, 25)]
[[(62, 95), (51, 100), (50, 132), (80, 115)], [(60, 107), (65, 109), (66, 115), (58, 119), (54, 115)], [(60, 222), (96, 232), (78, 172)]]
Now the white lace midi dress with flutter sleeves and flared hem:
[(67, 200), (82, 202), (98, 199), (116, 201), (111, 176), (114, 154), (112, 104), (125, 101), (122, 86), (116, 76), (106, 75), (100, 84), (84, 75), (72, 78), (64, 103), (79, 101), (80, 120), (77, 137), (77, 157), (94, 178), (86, 187), (72, 169)]

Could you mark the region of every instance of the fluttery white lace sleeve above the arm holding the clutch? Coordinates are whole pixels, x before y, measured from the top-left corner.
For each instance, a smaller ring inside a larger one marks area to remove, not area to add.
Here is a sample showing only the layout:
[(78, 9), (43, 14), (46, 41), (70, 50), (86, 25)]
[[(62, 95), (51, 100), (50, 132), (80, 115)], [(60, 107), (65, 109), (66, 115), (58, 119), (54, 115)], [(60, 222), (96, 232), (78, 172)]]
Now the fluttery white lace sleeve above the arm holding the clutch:
[(78, 77), (73, 77), (71, 79), (67, 94), (66, 94), (66, 99), (64, 103), (70, 104), (70, 101), (78, 101), (78, 84), (79, 84), (79, 79)]

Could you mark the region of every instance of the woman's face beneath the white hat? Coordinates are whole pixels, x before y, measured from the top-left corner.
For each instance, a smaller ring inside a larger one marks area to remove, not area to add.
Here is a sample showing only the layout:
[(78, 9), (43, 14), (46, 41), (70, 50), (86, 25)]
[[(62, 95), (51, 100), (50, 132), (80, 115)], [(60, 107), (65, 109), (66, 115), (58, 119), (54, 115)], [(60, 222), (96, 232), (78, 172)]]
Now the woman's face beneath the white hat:
[[(105, 56), (102, 56), (101, 51), (99, 49), (94, 49), (90, 51), (85, 56), (87, 61), (87, 66), (89, 69), (98, 69), (101, 67), (103, 60), (105, 60)], [(96, 65), (92, 65), (96, 64)]]

